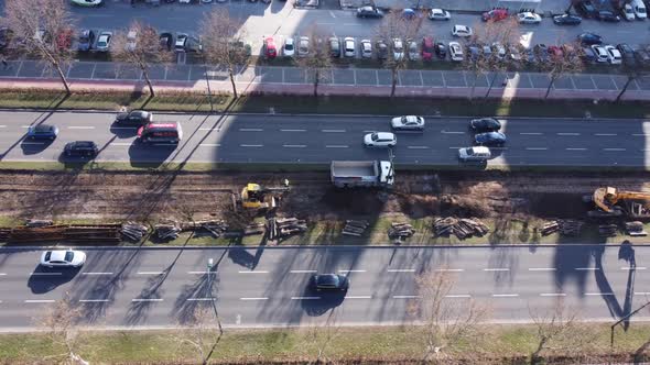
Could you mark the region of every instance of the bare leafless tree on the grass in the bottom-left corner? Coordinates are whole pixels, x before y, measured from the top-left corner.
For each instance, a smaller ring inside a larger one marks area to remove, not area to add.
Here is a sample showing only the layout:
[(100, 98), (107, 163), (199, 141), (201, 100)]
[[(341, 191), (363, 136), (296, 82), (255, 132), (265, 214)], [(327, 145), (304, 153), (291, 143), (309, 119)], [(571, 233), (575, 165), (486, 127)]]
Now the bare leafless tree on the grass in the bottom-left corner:
[(64, 363), (87, 364), (77, 354), (78, 344), (78, 321), (84, 312), (66, 292), (61, 300), (50, 306), (44, 314), (36, 319), (36, 323), (50, 336), (52, 343), (63, 345), (66, 352), (52, 357), (64, 358)]

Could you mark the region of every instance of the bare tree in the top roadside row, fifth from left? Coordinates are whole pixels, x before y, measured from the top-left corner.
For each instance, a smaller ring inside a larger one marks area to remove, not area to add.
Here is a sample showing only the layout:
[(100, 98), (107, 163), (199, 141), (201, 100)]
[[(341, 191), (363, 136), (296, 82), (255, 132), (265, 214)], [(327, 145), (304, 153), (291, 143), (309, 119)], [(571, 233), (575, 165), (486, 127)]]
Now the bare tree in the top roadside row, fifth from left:
[[(398, 73), (409, 66), (407, 42), (419, 37), (420, 24), (419, 20), (405, 19), (399, 11), (394, 11), (383, 16), (377, 30), (377, 37), (389, 46), (388, 58), (383, 62), (383, 67), (391, 71), (391, 98), (396, 93)], [(396, 41), (401, 41), (401, 51), (396, 48)]]

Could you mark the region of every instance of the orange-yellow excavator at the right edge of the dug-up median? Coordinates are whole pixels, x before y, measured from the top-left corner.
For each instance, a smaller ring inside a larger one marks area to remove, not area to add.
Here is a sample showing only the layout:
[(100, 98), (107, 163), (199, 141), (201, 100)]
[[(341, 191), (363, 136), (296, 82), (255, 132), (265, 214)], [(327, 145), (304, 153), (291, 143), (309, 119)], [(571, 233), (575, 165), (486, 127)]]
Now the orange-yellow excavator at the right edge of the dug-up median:
[(630, 218), (650, 218), (649, 192), (619, 191), (613, 187), (603, 187), (594, 191), (592, 200), (607, 215), (627, 213)]

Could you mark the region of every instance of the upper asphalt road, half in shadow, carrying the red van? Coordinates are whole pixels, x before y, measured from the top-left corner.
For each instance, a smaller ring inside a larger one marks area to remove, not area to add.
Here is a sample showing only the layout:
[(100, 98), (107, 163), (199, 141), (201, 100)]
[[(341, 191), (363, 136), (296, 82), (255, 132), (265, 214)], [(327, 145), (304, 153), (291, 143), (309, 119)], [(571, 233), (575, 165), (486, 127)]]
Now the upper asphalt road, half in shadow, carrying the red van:
[[(329, 163), (386, 159), (383, 148), (362, 144), (366, 133), (388, 131), (388, 117), (155, 114), (180, 121), (178, 146), (136, 141), (136, 128), (112, 125), (113, 113), (0, 112), (2, 161), (63, 161), (71, 141), (95, 141), (97, 162)], [(492, 148), (489, 165), (648, 166), (650, 123), (643, 120), (500, 119), (508, 143)], [(470, 146), (466, 118), (426, 118), (424, 133), (398, 132), (397, 163), (457, 165), (457, 150)], [(59, 128), (54, 142), (25, 141), (31, 124)], [(398, 166), (399, 169), (399, 166)]]

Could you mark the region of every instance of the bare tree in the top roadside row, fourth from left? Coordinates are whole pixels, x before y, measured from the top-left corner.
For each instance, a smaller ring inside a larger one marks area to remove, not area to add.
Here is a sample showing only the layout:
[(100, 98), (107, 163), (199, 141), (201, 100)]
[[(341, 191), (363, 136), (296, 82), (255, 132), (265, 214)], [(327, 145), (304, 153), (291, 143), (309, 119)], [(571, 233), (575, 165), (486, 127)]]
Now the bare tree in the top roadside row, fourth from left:
[[(327, 40), (319, 33), (312, 31), (308, 33), (310, 48), (305, 56), (297, 56), (295, 63), (304, 69), (311, 80), (314, 81), (314, 97), (318, 96), (318, 85), (327, 80), (332, 69), (332, 55)], [(299, 47), (301, 43), (299, 41)]]

